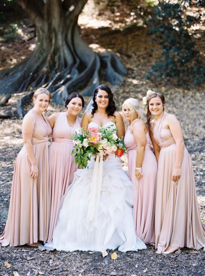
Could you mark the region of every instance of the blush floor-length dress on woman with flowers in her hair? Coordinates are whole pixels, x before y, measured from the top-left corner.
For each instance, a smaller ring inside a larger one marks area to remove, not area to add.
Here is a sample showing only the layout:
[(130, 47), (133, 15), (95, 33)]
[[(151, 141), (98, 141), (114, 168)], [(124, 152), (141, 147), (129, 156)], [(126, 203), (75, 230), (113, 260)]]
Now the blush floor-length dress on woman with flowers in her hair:
[(153, 139), (160, 146), (158, 160), (155, 247), (168, 245), (200, 249), (205, 246), (205, 229), (199, 216), (193, 167), (187, 148), (181, 164), (181, 177), (172, 181), (176, 143), (169, 129), (162, 126), (166, 112), (154, 120)]

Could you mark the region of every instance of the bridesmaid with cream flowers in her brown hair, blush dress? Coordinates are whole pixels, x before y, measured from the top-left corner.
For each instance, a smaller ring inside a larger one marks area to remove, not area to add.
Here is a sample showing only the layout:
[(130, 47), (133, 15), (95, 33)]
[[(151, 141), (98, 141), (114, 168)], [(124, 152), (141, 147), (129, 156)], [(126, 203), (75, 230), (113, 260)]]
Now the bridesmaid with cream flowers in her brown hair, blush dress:
[[(170, 254), (180, 247), (205, 246), (205, 229), (199, 216), (193, 167), (176, 117), (164, 112), (165, 98), (148, 91), (147, 124), (158, 161), (155, 248)], [(150, 122), (151, 115), (154, 120)]]

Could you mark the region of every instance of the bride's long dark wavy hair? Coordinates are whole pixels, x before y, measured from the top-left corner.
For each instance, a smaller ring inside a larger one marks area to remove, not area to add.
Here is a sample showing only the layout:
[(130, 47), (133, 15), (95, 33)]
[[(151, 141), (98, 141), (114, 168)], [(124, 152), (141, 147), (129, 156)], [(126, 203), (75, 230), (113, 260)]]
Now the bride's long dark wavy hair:
[(115, 102), (113, 100), (113, 93), (111, 92), (110, 87), (106, 86), (105, 84), (100, 84), (98, 87), (95, 88), (94, 95), (92, 97), (92, 100), (93, 100), (93, 104), (92, 104), (93, 109), (91, 112), (92, 117), (94, 116), (94, 113), (97, 110), (97, 102), (95, 102), (95, 97), (100, 89), (106, 91), (108, 93), (108, 97), (109, 97), (109, 104), (108, 104), (105, 112), (107, 113), (108, 117), (114, 116), (113, 114), (116, 111), (117, 107), (115, 106)]

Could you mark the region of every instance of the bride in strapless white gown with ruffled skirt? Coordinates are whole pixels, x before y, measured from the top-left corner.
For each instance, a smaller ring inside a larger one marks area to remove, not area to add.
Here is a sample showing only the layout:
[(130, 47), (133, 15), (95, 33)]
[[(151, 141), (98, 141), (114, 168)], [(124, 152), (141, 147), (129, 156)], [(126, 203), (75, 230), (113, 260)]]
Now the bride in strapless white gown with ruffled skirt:
[[(81, 126), (85, 129), (109, 126), (118, 129), (118, 137), (124, 136), (124, 123), (116, 112), (110, 88), (98, 86), (92, 99), (93, 109), (84, 114)], [(134, 229), (132, 182), (122, 170), (119, 157), (106, 155), (103, 160), (101, 174), (100, 163), (97, 171), (94, 168), (94, 157), (88, 161), (88, 168), (75, 172), (73, 183), (61, 201), (53, 241), (45, 246), (101, 252), (117, 247), (122, 252), (146, 248)]]

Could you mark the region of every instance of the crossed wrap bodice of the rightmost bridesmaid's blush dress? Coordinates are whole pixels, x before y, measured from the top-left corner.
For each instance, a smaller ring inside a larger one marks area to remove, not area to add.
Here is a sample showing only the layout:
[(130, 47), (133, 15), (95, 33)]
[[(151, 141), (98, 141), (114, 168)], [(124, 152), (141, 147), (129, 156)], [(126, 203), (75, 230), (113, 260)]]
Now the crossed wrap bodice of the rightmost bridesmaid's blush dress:
[(166, 112), (162, 112), (157, 120), (154, 119), (153, 139), (161, 149), (176, 143), (170, 129), (162, 126), (166, 114)]

